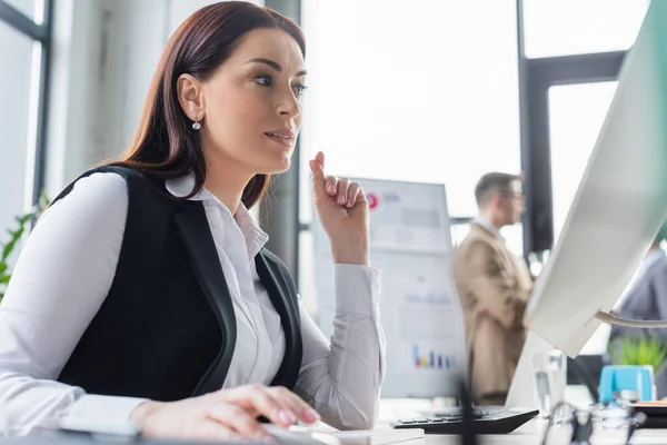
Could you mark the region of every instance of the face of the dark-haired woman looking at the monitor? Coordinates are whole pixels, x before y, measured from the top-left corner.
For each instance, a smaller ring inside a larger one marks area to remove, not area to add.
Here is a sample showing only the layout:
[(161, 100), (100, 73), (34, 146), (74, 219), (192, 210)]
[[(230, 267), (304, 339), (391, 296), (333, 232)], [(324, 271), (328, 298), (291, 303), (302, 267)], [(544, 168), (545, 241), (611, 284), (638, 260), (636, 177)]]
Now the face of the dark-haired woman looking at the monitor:
[(287, 170), (301, 129), (305, 81), (303, 56), (291, 36), (277, 29), (247, 33), (201, 83), (207, 165), (220, 165), (210, 162), (216, 159), (250, 175)]

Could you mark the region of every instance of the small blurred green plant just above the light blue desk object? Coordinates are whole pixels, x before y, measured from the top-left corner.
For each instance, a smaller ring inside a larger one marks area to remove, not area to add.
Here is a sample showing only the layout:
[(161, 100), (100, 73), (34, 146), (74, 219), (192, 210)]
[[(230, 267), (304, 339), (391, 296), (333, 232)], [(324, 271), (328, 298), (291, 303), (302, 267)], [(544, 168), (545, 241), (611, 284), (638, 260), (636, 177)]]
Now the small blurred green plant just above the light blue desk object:
[(621, 337), (609, 345), (609, 358), (615, 365), (650, 365), (659, 374), (667, 363), (667, 345), (656, 336)]

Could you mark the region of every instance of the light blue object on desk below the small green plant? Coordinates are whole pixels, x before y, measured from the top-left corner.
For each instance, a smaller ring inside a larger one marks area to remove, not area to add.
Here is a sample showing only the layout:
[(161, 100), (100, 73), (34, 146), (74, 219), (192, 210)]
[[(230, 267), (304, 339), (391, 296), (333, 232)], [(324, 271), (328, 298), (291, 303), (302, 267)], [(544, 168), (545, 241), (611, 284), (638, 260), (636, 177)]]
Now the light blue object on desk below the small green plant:
[(645, 366), (605, 366), (600, 374), (600, 403), (611, 403), (621, 390), (637, 393), (637, 400), (647, 402), (656, 398), (654, 369)]

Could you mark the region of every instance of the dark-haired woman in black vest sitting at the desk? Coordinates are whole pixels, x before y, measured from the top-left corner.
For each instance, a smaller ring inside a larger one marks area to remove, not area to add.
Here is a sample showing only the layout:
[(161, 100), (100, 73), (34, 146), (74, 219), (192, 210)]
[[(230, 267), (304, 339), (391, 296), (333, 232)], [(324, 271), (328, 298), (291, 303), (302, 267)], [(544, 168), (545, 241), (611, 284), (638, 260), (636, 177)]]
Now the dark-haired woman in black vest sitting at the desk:
[(321, 152), (310, 161), (336, 263), (331, 345), (247, 210), (289, 168), (303, 57), (299, 28), (251, 3), (176, 31), (129, 152), (66, 188), (17, 264), (0, 307), (6, 429), (62, 416), (191, 439), (259, 438), (260, 416), (372, 426), (384, 337), (361, 187), (326, 177)]

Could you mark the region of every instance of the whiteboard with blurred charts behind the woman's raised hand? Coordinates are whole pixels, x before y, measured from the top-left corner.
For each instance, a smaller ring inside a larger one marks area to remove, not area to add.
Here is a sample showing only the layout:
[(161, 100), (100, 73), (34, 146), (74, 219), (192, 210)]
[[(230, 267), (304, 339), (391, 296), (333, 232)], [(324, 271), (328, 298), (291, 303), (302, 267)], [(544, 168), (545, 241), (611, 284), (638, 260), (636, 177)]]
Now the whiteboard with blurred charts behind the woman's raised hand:
[[(381, 273), (387, 338), (384, 397), (458, 397), (467, 376), (464, 318), (451, 276), (444, 185), (351, 179), (370, 208), (371, 266)], [(313, 221), (318, 324), (331, 336), (336, 300), (329, 239)]]

